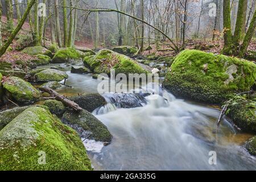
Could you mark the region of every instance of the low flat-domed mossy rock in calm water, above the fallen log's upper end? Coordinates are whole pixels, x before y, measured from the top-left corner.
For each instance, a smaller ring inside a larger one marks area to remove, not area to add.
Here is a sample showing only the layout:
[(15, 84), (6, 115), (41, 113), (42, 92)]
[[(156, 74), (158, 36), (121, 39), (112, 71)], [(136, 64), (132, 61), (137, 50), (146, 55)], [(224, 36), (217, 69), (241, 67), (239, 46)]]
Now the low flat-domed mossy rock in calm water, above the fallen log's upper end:
[(35, 78), (39, 82), (44, 81), (61, 81), (68, 78), (67, 73), (57, 69), (44, 69), (35, 74)]

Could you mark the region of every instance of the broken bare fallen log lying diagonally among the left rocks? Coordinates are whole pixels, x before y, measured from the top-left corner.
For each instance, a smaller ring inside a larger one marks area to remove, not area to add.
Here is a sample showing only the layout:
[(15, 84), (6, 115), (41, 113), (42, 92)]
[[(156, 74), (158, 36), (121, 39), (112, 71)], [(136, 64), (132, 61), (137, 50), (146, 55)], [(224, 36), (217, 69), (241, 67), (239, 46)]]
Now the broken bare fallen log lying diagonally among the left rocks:
[(64, 105), (71, 107), (75, 111), (82, 111), (82, 108), (76, 104), (76, 102), (68, 100), (65, 96), (57, 93), (53, 89), (40, 87), (39, 90), (49, 93), (51, 97), (54, 97), (56, 100), (63, 102)]

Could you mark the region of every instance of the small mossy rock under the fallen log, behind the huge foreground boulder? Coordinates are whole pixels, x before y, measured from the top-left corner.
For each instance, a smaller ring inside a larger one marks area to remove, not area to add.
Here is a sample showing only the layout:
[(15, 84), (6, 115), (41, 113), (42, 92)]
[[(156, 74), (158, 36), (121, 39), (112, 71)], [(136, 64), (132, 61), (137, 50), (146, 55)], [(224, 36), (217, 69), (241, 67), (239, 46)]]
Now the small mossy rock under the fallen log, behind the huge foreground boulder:
[(65, 112), (66, 107), (60, 101), (56, 100), (46, 100), (44, 101), (44, 105), (49, 108), (49, 111), (52, 114), (61, 115)]

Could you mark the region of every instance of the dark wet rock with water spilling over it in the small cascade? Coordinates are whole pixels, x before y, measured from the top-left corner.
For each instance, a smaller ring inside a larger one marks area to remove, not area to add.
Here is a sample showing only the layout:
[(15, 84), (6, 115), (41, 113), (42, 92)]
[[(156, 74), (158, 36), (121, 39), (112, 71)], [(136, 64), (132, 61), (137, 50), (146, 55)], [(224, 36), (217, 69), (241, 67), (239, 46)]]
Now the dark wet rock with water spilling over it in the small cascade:
[(146, 98), (147, 94), (133, 94), (133, 93), (113, 93), (104, 94), (104, 96), (119, 108), (134, 108), (142, 107), (147, 104)]

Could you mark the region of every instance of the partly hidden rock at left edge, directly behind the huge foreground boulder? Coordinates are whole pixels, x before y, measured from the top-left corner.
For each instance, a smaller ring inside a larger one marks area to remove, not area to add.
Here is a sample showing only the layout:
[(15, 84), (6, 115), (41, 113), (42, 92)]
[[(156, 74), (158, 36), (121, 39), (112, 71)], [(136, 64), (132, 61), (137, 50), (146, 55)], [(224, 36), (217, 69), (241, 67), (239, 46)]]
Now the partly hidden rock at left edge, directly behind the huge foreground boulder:
[[(34, 105), (36, 107), (43, 107), (43, 105)], [(26, 110), (28, 107), (34, 106), (23, 106), (23, 107), (14, 107), (13, 109), (8, 109), (0, 112), (0, 130), (2, 130), (8, 123), (10, 123), (14, 118), (17, 117), (20, 113)]]

